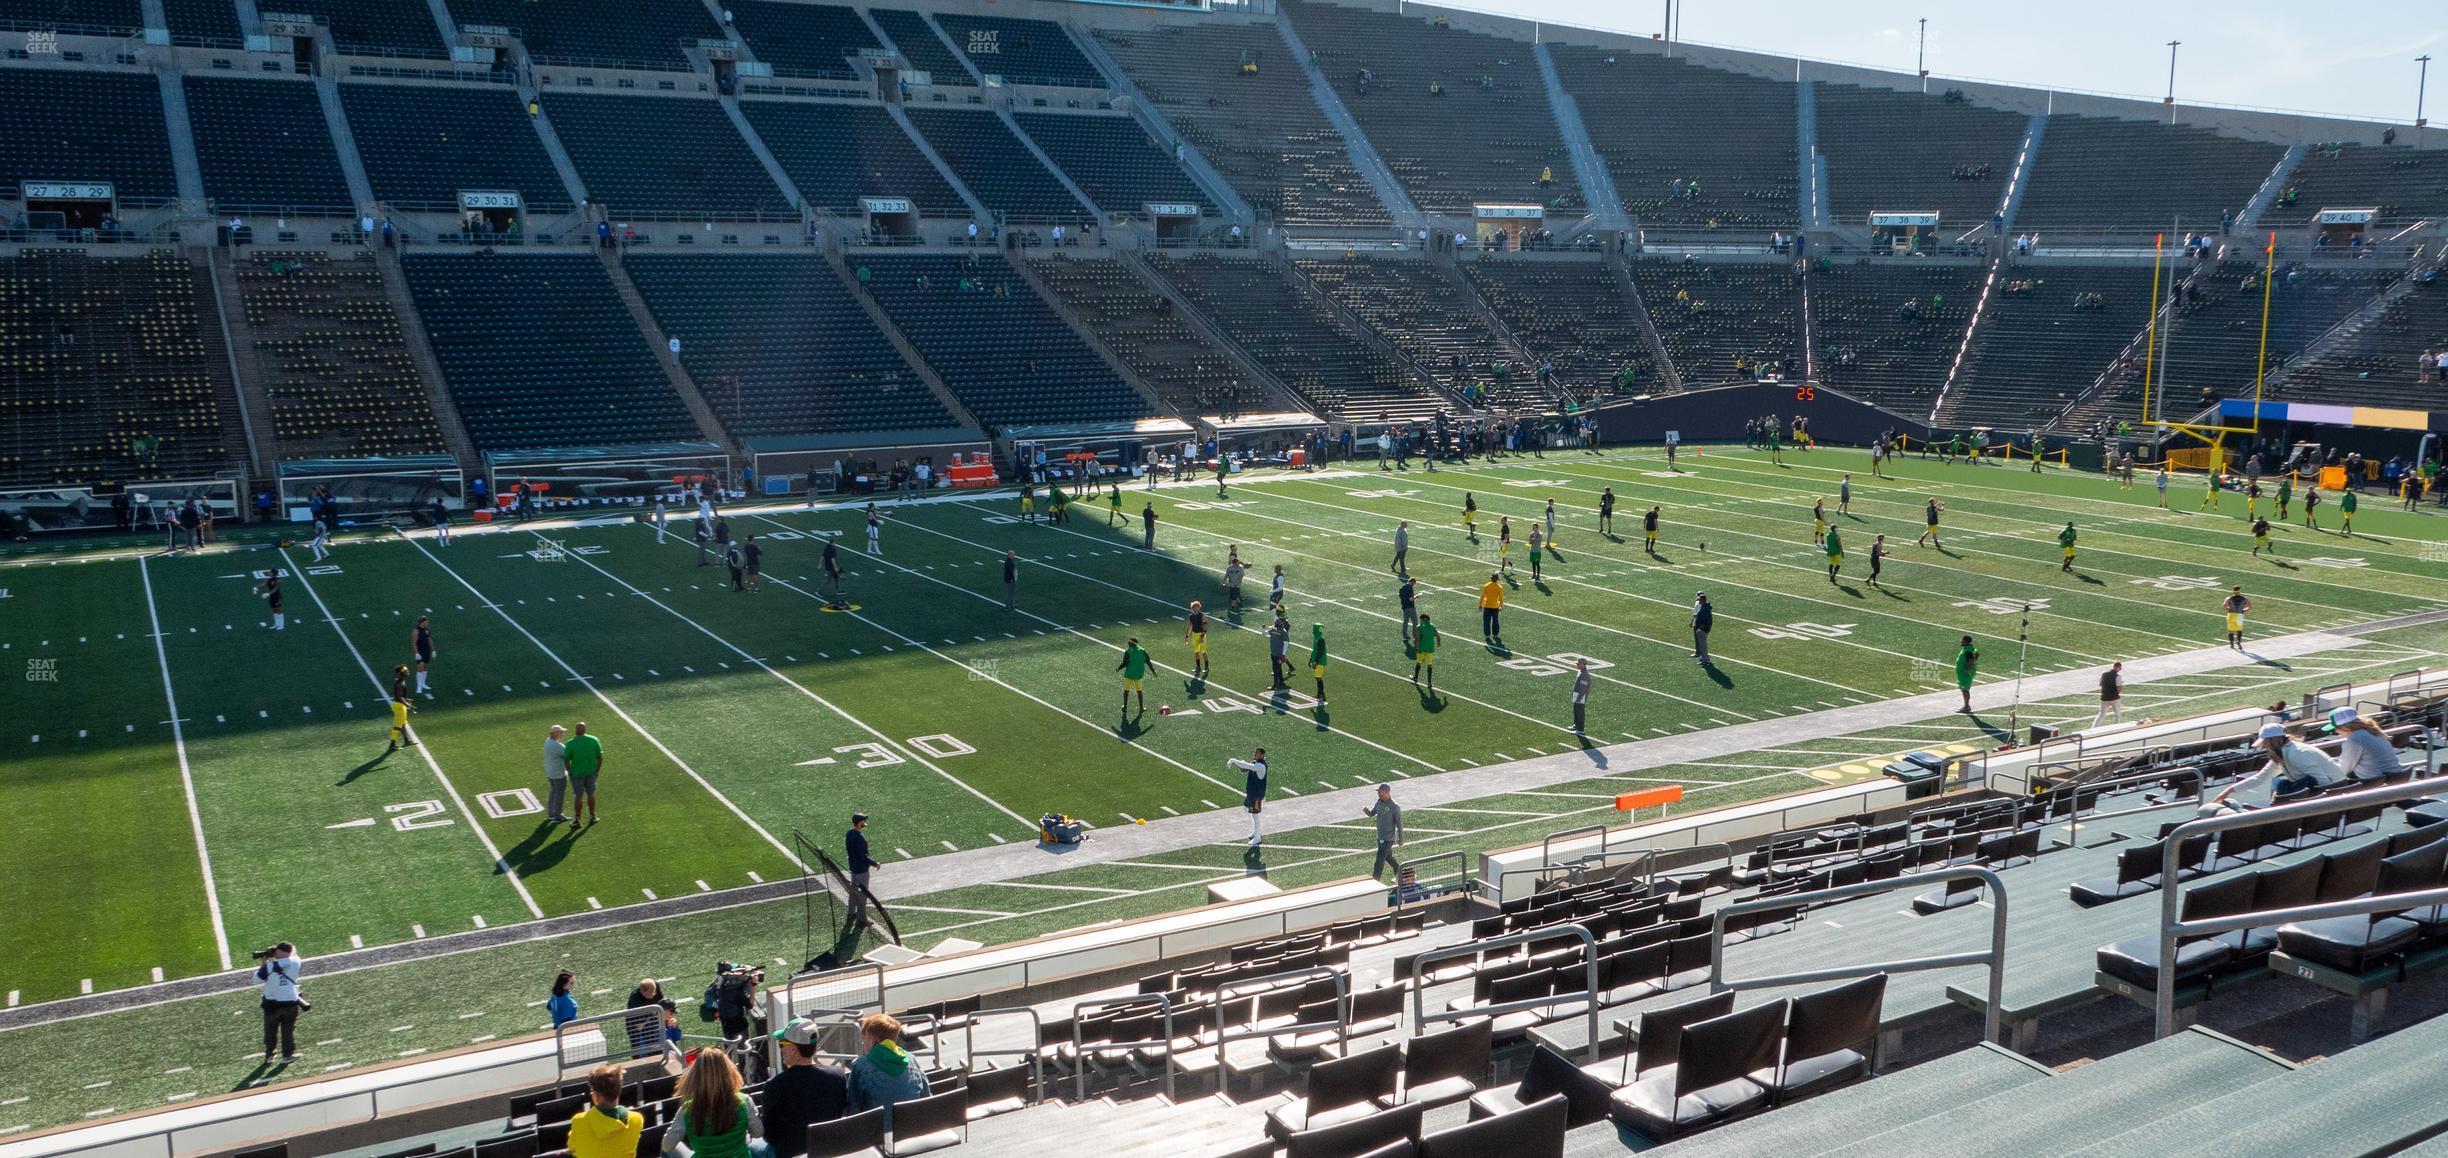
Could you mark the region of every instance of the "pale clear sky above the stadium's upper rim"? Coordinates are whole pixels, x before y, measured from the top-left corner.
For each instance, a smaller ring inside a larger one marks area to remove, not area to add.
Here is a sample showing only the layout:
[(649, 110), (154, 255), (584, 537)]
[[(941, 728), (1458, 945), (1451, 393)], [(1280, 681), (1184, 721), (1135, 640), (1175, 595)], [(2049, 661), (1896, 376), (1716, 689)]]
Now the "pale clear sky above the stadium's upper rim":
[[(1457, 7), (1650, 34), (1665, 0), (1447, 0)], [(2448, 2), (2198, 0), (1687, 0), (1682, 39), (2037, 88), (2159, 98), (2181, 39), (2176, 100), (2414, 120), (2414, 56), (2438, 56), (2426, 113), (2448, 125)]]

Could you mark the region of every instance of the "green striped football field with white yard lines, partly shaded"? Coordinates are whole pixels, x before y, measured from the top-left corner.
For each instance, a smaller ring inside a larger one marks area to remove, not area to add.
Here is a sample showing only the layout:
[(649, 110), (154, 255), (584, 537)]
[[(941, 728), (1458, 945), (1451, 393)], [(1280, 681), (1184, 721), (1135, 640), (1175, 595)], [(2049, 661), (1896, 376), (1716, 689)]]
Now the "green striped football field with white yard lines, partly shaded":
[[(881, 558), (864, 553), (854, 507), (742, 507), (734, 536), (766, 544), (759, 592), (732, 592), (690, 544), (619, 519), (463, 526), (450, 546), (365, 534), (326, 563), (269, 544), (179, 558), (20, 548), (0, 570), (0, 663), (24, 668), (0, 690), (0, 805), (12, 818), (0, 938), (15, 947), (0, 992), (32, 1006), (211, 974), (284, 938), (323, 957), (703, 896), (688, 916), (438, 960), (404, 952), (323, 979), (308, 1031), (338, 1036), (316, 1038), (299, 1077), (531, 1031), (529, 996), (565, 962), (588, 969), (590, 1011), (639, 974), (685, 987), (715, 955), (796, 962), (796, 901), (725, 894), (798, 876), (793, 832), (837, 854), (852, 810), (874, 815), (879, 884), (894, 869), (928, 879), (938, 854), (1001, 857), (994, 879), (945, 874), (894, 894), (920, 947), (955, 933), (996, 943), (1192, 906), (1204, 884), (1251, 872), (1246, 850), (1219, 837), (1239, 825), (1241, 791), (1224, 761), (1258, 744), (1278, 798), (1342, 791), (1354, 808), (1368, 783), (1488, 769), (1466, 781), (1466, 801), (1410, 813), (1410, 854), (1481, 852), (1611, 820), (1611, 796), (1638, 786), (1682, 783), (1687, 805), (1721, 805), (1875, 776), (1892, 752), (1993, 742), (2005, 715), (1934, 708), (1726, 759), (1621, 774), (1596, 761), (1535, 786), (1510, 771), (1946, 690), (1963, 634), (1983, 654), (1980, 683), (2015, 681), (2024, 614), (2022, 673), (2047, 676), (2215, 649), (2228, 585), (2252, 597), (2252, 639), (2448, 607), (2448, 521), (2382, 499), (2365, 502), (2353, 536), (2335, 534), (2333, 502), (2326, 531), (2296, 509), (2277, 558), (2255, 558), (2242, 499), (2196, 512), (2198, 477), (2162, 512), (2147, 480), (2120, 490), (1917, 458), (1892, 468), (1900, 480), (1875, 480), (1860, 453), (1785, 460), (1687, 450), (1667, 470), (1657, 453), (1616, 450), (1437, 473), (1368, 463), (1256, 475), (1224, 497), (1212, 482), (1129, 487), (1126, 524), (1104, 499), (1077, 502), (1067, 524), (1031, 524), (1009, 495), (965, 495), (886, 507)], [(1848, 470), (1851, 514), (1836, 514)], [(1596, 529), (1603, 487), (1618, 495), (1613, 536)], [(1466, 495), (1476, 541), (1461, 529)], [(1927, 497), (1946, 504), (1944, 546), (1914, 546)], [(1557, 548), (1532, 580), (1525, 539), (1547, 499)], [(1814, 499), (1846, 541), (1836, 583), (1812, 541)], [(1155, 551), (1141, 546), (1143, 504), (1158, 512)], [(1655, 553), (1640, 544), (1650, 504), (1662, 507)], [(1501, 568), (1498, 517), (1513, 519), (1515, 548), (1503, 641), (1486, 644), (1476, 602)], [(2066, 519), (2081, 534), (2073, 573), (2059, 570)], [(1435, 695), (1412, 683), (1400, 632), (1400, 521), (1420, 607), (1444, 629)], [(1868, 583), (1875, 534), (1892, 548), (1880, 585)], [(820, 536), (840, 536), (854, 610), (823, 607)], [(1234, 546), (1251, 563), (1246, 614), (1224, 610)], [(1021, 556), (1011, 612), (1006, 548)], [(1293, 690), (1268, 690), (1261, 634), (1278, 563)], [(284, 632), (252, 595), (274, 568), (289, 575)], [(1718, 610), (1711, 666), (1689, 659), (1696, 590)], [(1182, 639), (1190, 600), (1217, 612), (1204, 681)], [(387, 752), (384, 685), (409, 661), (419, 614), (438, 644), (411, 720), (421, 747)], [(1327, 703), (1305, 663), (1310, 624), (1327, 637)], [(1131, 637), (1155, 661), (1146, 712), (1116, 703)], [(2389, 627), (2137, 685), (2130, 703), (2152, 715), (2267, 703), (2436, 666), (2441, 649), (2438, 624)], [(1584, 656), (1596, 678), (1586, 739), (1567, 703)], [(2017, 712), (2088, 715), (2088, 695)], [(580, 720), (607, 749), (605, 820), (585, 830), (548, 825), (539, 808), (546, 727)], [(1065, 869), (1033, 847), (1048, 810), (1109, 830), (1226, 808), (1180, 847), (1119, 864)], [(1271, 832), (1263, 872), (1312, 884), (1366, 872), (1368, 852), (1368, 823), (1354, 815)], [(279, 1077), (233, 1067), (252, 1055), (242, 994), (132, 1004), (142, 1009), (118, 1014), (130, 1031), (196, 1043), (181, 1045), (196, 1058), (171, 1050), (100, 1089), (37, 1092), (24, 1124), (0, 1102), (0, 1134)], [(7, 1028), (0, 1060), (34, 1063), (71, 1028)]]

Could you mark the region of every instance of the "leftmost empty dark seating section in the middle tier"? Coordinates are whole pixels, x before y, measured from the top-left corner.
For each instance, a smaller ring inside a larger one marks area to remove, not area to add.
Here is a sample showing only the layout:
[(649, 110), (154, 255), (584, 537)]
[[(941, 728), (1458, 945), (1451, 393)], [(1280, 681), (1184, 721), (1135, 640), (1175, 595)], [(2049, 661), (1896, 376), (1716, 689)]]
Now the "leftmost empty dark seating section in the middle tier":
[(15, 198), (24, 181), (110, 181), (122, 206), (176, 198), (159, 83), (149, 73), (0, 69), (0, 196)]

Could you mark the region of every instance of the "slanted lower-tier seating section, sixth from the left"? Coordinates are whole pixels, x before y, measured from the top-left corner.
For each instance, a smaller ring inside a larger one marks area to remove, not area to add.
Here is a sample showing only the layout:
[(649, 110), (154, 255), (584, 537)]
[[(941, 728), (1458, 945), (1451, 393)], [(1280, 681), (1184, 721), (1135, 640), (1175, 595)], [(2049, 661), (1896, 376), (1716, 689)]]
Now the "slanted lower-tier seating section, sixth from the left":
[(1182, 414), (1251, 411), (1266, 404), (1261, 382), (1244, 382), (1231, 355), (1207, 343), (1173, 304), (1119, 260), (1055, 250), (1031, 262), (1038, 279)]

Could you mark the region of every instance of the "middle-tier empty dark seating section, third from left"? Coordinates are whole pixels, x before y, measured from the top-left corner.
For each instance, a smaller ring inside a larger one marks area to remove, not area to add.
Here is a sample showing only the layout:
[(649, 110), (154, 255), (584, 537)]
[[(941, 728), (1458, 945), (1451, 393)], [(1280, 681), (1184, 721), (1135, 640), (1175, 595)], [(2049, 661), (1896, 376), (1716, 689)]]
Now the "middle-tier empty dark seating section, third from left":
[(387, 206), (450, 211), (475, 189), (514, 191), (536, 213), (573, 208), (517, 93), (343, 83), (340, 108)]

